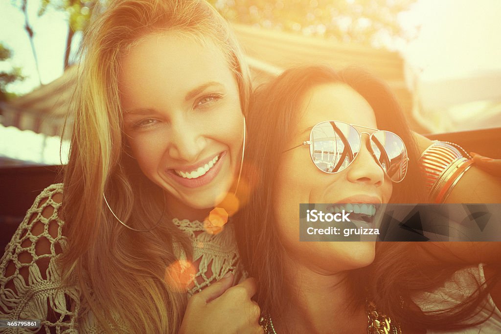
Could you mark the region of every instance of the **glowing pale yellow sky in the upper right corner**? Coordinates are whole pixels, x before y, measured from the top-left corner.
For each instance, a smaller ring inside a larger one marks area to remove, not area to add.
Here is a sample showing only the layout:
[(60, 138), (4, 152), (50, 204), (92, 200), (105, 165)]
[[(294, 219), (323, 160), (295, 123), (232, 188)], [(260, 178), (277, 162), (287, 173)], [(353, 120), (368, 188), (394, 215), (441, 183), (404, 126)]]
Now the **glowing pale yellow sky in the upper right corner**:
[(421, 81), (501, 75), (500, 18), (499, 0), (419, 0), (400, 16), (403, 25), (421, 27), (401, 52)]

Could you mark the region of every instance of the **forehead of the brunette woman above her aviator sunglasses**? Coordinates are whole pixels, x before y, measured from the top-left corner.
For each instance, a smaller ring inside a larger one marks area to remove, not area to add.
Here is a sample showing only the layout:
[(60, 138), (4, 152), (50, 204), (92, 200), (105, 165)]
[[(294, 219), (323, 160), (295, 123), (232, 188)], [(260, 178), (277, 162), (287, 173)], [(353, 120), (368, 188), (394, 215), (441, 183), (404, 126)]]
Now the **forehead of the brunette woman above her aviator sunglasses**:
[(312, 87), (303, 98), (301, 110), (299, 130), (323, 121), (343, 121), (377, 128), (376, 117), (369, 103), (343, 83)]

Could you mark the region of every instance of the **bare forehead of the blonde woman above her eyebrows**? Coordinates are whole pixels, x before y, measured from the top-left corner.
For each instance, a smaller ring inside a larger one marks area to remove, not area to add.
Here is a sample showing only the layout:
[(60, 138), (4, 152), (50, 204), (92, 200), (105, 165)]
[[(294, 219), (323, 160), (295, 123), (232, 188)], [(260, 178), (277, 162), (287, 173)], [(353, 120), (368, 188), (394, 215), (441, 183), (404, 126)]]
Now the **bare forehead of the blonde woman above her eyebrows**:
[(120, 59), (118, 84), (125, 104), (177, 98), (207, 82), (236, 86), (220, 48), (185, 33), (146, 35)]

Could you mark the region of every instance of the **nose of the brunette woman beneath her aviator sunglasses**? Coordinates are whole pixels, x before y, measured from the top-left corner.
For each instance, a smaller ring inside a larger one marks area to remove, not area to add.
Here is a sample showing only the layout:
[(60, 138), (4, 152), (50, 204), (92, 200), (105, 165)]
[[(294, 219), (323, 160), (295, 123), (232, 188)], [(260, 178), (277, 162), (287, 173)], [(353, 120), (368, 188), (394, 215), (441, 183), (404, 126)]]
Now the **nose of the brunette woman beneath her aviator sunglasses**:
[(373, 157), (369, 145), (369, 135), (362, 134), (360, 152), (347, 168), (347, 177), (350, 182), (381, 186), (384, 183), (384, 171)]

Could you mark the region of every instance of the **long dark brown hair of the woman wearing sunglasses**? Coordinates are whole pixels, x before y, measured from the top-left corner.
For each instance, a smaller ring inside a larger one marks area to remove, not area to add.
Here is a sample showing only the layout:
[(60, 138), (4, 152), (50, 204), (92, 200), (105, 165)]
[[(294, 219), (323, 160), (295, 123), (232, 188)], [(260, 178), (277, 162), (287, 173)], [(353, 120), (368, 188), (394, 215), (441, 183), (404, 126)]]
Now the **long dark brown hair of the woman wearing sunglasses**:
[[(275, 180), (280, 172), (280, 157), (290, 134), (294, 133), (305, 93), (315, 85), (335, 82), (351, 86), (364, 97), (374, 110), (378, 128), (396, 133), (407, 146), (410, 159), (407, 176), (403, 182), (394, 184), (390, 201), (427, 201), (423, 177), (417, 167), (420, 156), (417, 145), (394, 94), (385, 83), (358, 68), (336, 72), (329, 67), (307, 66), (289, 69), (261, 87), (256, 92), (252, 112), (247, 117), (252, 140), (246, 147), (246, 158), (247, 163), (254, 165), (254, 168), (244, 170), (244, 177), (249, 179), (249, 183), (255, 184), (255, 191), (250, 195), (247, 206), (238, 213), (235, 227), (241, 260), (249, 274), (258, 280), (257, 301), (263, 312), (273, 312), (274, 317), (280, 317), (287, 305), (287, 300), (280, 298), (287, 295), (286, 270), (283, 267), (285, 248), (280, 241), (272, 208), (275, 202)], [(458, 321), (473, 313), (480, 298), (470, 299), (468, 303), (455, 308), (453, 314), (447, 315), (443, 312), (423, 313), (408, 297), (412, 293), (438, 286), (458, 269), (457, 264), (444, 265), (440, 270), (435, 270), (416, 261), (411, 262), (411, 259), (415, 260), (411, 256), (412, 243), (380, 243), (376, 249), (376, 259), (372, 265), (350, 271), (352, 306), (360, 305), (369, 297), (383, 311), (396, 316), (408, 326), (442, 329), (465, 327), (464, 324), (457, 324)], [(371, 284), (367, 283), (368, 278), (373, 279)], [(367, 290), (360, 286), (367, 286)], [(405, 308), (400, 307), (401, 296), (405, 298)]]

